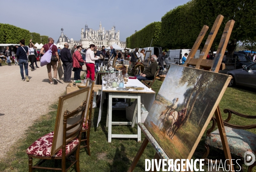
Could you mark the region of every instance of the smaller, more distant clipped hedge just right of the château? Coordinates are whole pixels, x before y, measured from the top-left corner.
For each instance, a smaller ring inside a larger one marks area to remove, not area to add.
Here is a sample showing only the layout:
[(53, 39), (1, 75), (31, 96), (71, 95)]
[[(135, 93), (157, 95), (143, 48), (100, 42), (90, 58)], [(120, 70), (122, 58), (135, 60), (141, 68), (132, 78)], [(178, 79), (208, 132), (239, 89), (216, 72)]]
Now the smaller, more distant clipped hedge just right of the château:
[(159, 34), (161, 31), (161, 22), (150, 23), (145, 28), (132, 34), (130, 36), (129, 48), (134, 49), (136, 47), (143, 48), (149, 47), (153, 38), (151, 46), (160, 46)]

